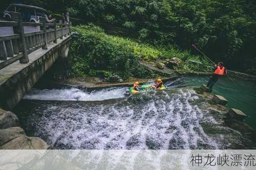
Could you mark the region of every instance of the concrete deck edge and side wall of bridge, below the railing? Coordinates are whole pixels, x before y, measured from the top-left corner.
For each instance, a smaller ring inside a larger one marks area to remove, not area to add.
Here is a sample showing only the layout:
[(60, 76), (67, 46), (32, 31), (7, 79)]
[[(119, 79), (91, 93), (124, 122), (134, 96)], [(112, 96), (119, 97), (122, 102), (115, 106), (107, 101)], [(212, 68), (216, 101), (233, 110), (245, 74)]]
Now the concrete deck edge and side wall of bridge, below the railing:
[(42, 48), (28, 55), (26, 64), (18, 61), (0, 70), (0, 107), (12, 110), (27, 91), (44, 75), (58, 57), (68, 57), (71, 35), (49, 43), (48, 49)]

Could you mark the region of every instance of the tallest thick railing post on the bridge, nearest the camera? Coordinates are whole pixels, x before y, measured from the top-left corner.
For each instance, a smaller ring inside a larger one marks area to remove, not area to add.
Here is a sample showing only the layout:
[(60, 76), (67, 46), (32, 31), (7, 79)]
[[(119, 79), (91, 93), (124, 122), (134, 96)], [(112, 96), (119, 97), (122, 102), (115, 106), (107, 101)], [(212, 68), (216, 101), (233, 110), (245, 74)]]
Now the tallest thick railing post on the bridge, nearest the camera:
[(21, 13), (17, 14), (17, 19), (18, 19), (18, 27), (14, 29), (14, 32), (19, 34), (19, 43), (21, 43), (21, 47), (22, 47), (22, 49), (20, 50), (23, 53), (23, 57), (19, 59), (19, 62), (28, 63), (29, 59), (28, 59), (27, 45), (26, 45), (25, 32), (24, 32)]

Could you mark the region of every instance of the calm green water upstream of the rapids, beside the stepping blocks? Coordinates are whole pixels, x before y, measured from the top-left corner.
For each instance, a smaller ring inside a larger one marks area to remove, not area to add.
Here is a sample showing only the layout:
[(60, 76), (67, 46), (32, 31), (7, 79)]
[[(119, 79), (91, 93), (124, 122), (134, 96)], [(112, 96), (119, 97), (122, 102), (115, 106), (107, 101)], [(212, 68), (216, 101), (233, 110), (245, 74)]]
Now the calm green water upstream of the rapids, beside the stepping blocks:
[[(182, 78), (182, 84), (201, 86), (207, 84), (208, 77)], [(213, 86), (213, 94), (224, 96), (228, 100), (227, 107), (242, 110), (247, 117), (244, 122), (256, 129), (256, 82), (240, 79), (231, 81), (227, 77), (219, 79)]]

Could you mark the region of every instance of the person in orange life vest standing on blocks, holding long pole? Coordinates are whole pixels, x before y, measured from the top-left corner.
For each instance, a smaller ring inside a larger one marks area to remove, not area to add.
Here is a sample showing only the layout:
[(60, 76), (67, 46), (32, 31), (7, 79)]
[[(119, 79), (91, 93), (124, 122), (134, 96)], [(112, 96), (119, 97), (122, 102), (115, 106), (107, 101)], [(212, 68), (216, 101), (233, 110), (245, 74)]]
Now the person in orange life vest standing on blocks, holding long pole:
[(214, 72), (210, 77), (207, 87), (212, 89), (213, 85), (218, 81), (218, 79), (223, 77), (225, 74), (227, 74), (227, 70), (223, 66), (223, 62), (219, 62), (218, 65), (215, 65)]

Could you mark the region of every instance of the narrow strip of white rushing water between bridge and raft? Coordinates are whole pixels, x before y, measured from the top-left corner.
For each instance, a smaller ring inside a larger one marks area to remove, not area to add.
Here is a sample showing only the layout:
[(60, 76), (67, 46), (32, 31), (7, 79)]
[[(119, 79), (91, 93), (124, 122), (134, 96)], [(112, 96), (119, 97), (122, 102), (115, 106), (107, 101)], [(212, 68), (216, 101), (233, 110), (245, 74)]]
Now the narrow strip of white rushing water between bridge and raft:
[(127, 88), (108, 88), (99, 91), (83, 91), (78, 88), (30, 90), (23, 99), (45, 101), (103, 101), (124, 98)]

